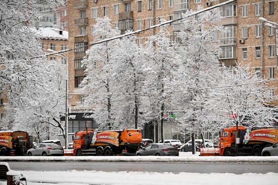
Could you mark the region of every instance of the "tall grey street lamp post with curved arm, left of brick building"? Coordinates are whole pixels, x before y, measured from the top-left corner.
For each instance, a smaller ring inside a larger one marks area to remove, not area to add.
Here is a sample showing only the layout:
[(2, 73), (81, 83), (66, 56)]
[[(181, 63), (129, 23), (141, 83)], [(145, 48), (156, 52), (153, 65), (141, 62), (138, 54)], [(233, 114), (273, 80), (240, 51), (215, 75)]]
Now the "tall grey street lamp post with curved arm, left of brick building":
[[(55, 52), (53, 49), (48, 49), (48, 51)], [(65, 106), (65, 149), (68, 149), (68, 116), (69, 116), (69, 109), (68, 109), (68, 83), (69, 83), (69, 65), (68, 65), (68, 57), (65, 53), (54, 54), (57, 56), (61, 56), (66, 60), (67, 65), (67, 77), (66, 77), (66, 106)]]

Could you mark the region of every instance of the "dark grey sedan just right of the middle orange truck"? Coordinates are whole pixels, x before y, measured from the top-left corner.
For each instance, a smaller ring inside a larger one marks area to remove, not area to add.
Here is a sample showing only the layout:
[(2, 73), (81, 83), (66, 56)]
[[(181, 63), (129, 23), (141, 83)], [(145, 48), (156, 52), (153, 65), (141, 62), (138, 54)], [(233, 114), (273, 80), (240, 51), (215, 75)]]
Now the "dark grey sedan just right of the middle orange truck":
[(178, 156), (178, 149), (167, 144), (153, 143), (136, 152), (136, 156), (156, 155), (156, 156)]

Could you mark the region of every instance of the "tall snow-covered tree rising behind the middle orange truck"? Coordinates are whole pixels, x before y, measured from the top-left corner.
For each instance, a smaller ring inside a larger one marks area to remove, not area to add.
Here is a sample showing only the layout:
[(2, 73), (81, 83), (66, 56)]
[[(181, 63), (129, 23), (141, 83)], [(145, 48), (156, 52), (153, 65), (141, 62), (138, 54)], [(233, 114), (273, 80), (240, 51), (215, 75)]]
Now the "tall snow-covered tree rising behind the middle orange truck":
[[(120, 31), (111, 27), (109, 18), (97, 19), (95, 25), (96, 39), (103, 40), (120, 35)], [(86, 77), (81, 83), (86, 93), (99, 95), (87, 95), (82, 106), (87, 109), (94, 108), (94, 118), (100, 129), (117, 128), (115, 114), (117, 102), (113, 94), (117, 89), (117, 71), (115, 70), (115, 57), (119, 52), (119, 41), (112, 40), (91, 46), (87, 51), (87, 57), (82, 60)]]

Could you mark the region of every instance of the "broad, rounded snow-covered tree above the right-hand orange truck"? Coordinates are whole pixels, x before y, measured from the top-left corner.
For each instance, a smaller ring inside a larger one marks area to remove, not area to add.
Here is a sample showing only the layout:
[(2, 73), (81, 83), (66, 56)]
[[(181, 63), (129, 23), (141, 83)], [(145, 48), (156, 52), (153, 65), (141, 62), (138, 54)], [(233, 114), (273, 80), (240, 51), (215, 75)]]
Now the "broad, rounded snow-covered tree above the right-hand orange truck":
[[(277, 97), (269, 97), (269, 87), (250, 65), (237, 64), (233, 69), (224, 68), (218, 79), (211, 79), (212, 87), (207, 90), (204, 107), (213, 110), (208, 116), (218, 129), (239, 125), (247, 127), (272, 126), (277, 121), (278, 107), (268, 103)], [(240, 85), (246, 84), (246, 85)], [(219, 131), (219, 130), (216, 130)]]

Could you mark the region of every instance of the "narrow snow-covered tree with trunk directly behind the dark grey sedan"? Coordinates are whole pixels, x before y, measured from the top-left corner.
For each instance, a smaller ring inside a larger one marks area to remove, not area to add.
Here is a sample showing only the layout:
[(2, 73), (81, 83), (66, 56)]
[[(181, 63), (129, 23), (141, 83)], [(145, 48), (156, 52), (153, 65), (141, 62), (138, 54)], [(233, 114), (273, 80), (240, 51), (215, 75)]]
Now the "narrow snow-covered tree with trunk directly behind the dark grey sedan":
[(157, 92), (147, 94), (149, 97), (145, 98), (145, 116), (149, 120), (160, 120), (161, 140), (164, 141), (164, 113), (172, 109), (169, 94), (164, 92), (173, 89), (172, 73), (176, 68), (177, 57), (175, 47), (170, 41), (170, 33), (165, 26), (162, 26), (156, 35), (149, 37), (144, 57), (146, 60), (144, 71), (148, 75), (145, 89), (147, 92)]

